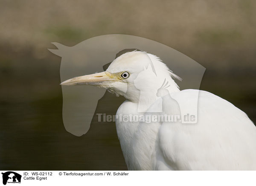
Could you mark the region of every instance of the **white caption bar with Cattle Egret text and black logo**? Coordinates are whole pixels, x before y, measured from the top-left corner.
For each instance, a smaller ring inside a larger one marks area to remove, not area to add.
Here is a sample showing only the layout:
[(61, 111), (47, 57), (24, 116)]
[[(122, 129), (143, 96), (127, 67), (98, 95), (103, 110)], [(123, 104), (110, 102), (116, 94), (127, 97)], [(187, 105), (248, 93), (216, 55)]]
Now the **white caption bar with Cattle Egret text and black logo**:
[[(1, 171), (7, 186), (255, 186), (255, 171)], [(15, 184), (18, 183), (18, 184)], [(1, 183), (2, 184), (2, 183)]]

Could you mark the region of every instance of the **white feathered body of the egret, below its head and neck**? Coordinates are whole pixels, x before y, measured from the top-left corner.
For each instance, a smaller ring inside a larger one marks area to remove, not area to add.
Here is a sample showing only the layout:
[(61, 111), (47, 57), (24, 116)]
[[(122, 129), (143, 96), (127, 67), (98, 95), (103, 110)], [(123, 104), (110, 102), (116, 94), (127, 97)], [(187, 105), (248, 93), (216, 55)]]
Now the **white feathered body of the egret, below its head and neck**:
[[(256, 170), (256, 127), (230, 102), (206, 91), (199, 94), (197, 124), (116, 120), (129, 170)], [(188, 100), (189, 107), (198, 94), (182, 90), (176, 96)], [(134, 114), (136, 108), (125, 101), (116, 114)]]

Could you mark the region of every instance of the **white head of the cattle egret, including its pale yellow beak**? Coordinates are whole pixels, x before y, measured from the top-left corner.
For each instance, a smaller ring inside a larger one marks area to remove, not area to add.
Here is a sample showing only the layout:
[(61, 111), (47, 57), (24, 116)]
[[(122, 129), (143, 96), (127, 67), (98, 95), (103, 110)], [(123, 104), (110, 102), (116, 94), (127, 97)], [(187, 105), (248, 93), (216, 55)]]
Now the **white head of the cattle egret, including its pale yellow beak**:
[(111, 93), (137, 102), (141, 91), (156, 96), (165, 79), (170, 83), (170, 92), (179, 91), (172, 77), (180, 79), (157, 56), (133, 51), (120, 55), (105, 72), (74, 77), (62, 82), (61, 85), (104, 87)]

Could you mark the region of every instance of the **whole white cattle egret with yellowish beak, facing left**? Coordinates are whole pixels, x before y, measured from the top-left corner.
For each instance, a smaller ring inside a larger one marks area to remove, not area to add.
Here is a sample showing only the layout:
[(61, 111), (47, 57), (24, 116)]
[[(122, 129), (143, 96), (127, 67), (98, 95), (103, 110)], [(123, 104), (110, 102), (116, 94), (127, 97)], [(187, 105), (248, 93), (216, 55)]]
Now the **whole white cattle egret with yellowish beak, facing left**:
[(195, 124), (116, 119), (128, 170), (256, 170), (256, 127), (247, 115), (212, 93), (180, 91), (173, 78), (179, 77), (160, 58), (133, 51), (116, 58), (105, 72), (61, 85), (94, 85), (124, 96), (118, 116), (152, 114), (152, 109), (176, 115), (179, 106), (195, 112), (192, 103), (198, 99)]

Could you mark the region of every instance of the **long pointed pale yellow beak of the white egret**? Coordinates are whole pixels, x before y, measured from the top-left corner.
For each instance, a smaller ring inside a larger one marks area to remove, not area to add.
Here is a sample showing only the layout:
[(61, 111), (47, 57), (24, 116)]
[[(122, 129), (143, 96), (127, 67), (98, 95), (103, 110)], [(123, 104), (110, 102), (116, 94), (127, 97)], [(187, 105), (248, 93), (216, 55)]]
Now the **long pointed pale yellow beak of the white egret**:
[(63, 81), (61, 85), (104, 85), (109, 81), (120, 81), (111, 73), (105, 71), (102, 73), (95, 73), (86, 76), (79, 76)]

